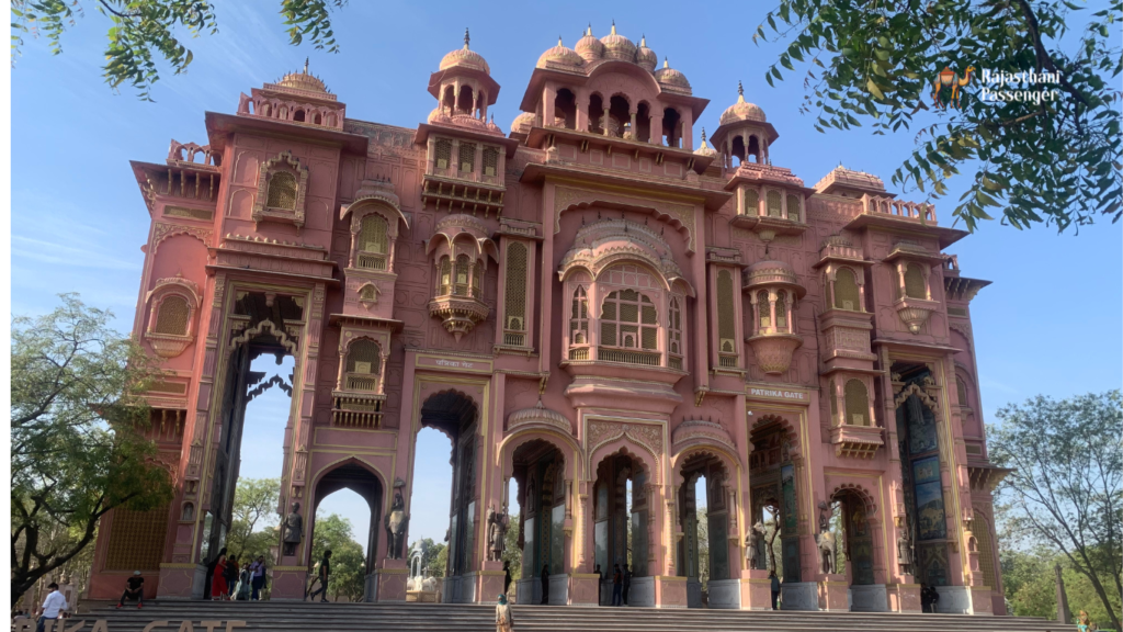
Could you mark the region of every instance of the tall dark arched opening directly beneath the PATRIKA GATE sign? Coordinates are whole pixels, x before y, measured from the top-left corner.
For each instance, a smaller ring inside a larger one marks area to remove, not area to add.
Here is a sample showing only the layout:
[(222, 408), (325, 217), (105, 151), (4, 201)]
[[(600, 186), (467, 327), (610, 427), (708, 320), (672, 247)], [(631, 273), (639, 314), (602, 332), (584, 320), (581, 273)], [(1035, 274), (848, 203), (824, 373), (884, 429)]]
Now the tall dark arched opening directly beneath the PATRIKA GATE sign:
[[(802, 581), (800, 572), (798, 490), (792, 462), (794, 436), (784, 419), (763, 417), (749, 434), (749, 479), (752, 481), (751, 522), (765, 524), (758, 554), (784, 584)], [(770, 529), (768, 518), (775, 523)], [(776, 559), (776, 541), (778, 560)], [(767, 557), (765, 557), (767, 556)]]

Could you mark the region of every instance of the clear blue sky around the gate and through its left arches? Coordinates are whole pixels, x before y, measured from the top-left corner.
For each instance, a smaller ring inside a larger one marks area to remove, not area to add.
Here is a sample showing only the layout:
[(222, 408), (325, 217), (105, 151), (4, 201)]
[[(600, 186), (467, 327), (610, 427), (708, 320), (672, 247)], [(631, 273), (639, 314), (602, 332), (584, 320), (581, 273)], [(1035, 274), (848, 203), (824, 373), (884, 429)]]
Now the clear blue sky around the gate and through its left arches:
[[(749, 39), (766, 10), (756, 2), (637, 11), (631, 3), (605, 1), (353, 1), (336, 15), (343, 51), (329, 55), (287, 44), (277, 2), (221, 1), (219, 34), (189, 42), (190, 71), (164, 73), (153, 92), (155, 103), (138, 101), (127, 90), (115, 94), (102, 82), (108, 21), (86, 4), (85, 17), (63, 40), (62, 55), (52, 56), (44, 42), (28, 38), (11, 73), (13, 314), (47, 312), (54, 295), (79, 291), (86, 303), (112, 309), (119, 328), (128, 331), (148, 226), (129, 160), (159, 162), (172, 138), (206, 143), (203, 111), (232, 112), (239, 92), (300, 67), (305, 56), (312, 72), (347, 103), (349, 117), (413, 127), (435, 107), (426, 91), (429, 73), (460, 46), (465, 26), (472, 28), (473, 49), (487, 58), (502, 87), (491, 111), (504, 130), (519, 114), (539, 54), (558, 35), (573, 46), (590, 22), (603, 36), (615, 19), (621, 34), (633, 40), (646, 35), (660, 58), (667, 56), (686, 74), (695, 96), (711, 99), (696, 134), (716, 128), (742, 80), (746, 98), (763, 107), (779, 132), (773, 162), (792, 168), (809, 186), (840, 162), (888, 182), (913, 148), (912, 134), (815, 132), (811, 117), (796, 111), (803, 96), (796, 73), (787, 73), (791, 79), (777, 88), (764, 81), (778, 48)], [(966, 178), (950, 184), (951, 195), (937, 201), (944, 225)], [(988, 422), (997, 407), (1037, 394), (1061, 398), (1120, 386), (1119, 225), (1103, 222), (1078, 236), (1071, 231), (1058, 236), (1048, 227), (1019, 232), (988, 223), (949, 252), (959, 255), (965, 276), (994, 281), (971, 304)], [(246, 459), (245, 476), (275, 476), (280, 469), (280, 437), (273, 430), (277, 423), (283, 427), (287, 403), (267, 405), (270, 397), (283, 395), (274, 389), (263, 396), (262, 412), (249, 419), (257, 430), (247, 427), (247, 441), (253, 435), (266, 443), (255, 443), (265, 457)], [(449, 448), (431, 434), (419, 441), (417, 494), (433, 502), (413, 505), (431, 515), (416, 513), (411, 535), (439, 541), (447, 525)], [(273, 444), (275, 450), (268, 448)], [(365, 531), (365, 505), (356, 500), (340, 493), (323, 507)]]

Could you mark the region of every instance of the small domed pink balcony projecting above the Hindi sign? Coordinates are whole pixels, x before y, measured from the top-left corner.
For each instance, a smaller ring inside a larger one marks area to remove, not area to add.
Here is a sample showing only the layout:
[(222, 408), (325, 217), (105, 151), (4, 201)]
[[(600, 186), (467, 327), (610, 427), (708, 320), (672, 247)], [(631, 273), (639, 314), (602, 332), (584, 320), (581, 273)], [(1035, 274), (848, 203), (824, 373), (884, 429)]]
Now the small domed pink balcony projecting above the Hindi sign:
[(457, 341), (491, 314), (484, 303), (487, 259), (499, 261), (499, 250), (487, 227), (471, 215), (449, 215), (437, 223), (426, 253), (436, 270), (429, 315), (441, 319)]

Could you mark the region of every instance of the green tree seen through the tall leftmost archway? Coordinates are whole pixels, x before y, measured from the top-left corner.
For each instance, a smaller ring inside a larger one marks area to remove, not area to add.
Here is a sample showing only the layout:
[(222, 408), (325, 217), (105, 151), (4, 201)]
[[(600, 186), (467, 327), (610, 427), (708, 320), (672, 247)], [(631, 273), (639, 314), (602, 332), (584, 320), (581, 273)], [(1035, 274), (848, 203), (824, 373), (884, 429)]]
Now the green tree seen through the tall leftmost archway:
[(234, 491), (234, 520), (226, 536), (231, 556), (253, 561), (258, 556), (270, 558), (270, 547), (277, 544), (275, 530), (281, 496), (281, 479), (240, 478)]

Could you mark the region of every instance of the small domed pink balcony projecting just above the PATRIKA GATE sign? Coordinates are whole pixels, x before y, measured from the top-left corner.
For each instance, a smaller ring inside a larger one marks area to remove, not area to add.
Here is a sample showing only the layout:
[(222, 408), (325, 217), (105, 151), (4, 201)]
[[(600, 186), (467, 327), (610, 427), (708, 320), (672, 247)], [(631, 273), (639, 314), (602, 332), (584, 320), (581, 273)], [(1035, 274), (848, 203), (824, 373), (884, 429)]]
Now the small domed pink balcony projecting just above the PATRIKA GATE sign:
[(742, 289), (749, 297), (749, 346), (765, 373), (778, 376), (792, 364), (803, 338), (795, 327), (795, 309), (807, 292), (795, 269), (783, 261), (758, 261), (745, 269)]

